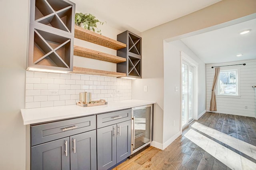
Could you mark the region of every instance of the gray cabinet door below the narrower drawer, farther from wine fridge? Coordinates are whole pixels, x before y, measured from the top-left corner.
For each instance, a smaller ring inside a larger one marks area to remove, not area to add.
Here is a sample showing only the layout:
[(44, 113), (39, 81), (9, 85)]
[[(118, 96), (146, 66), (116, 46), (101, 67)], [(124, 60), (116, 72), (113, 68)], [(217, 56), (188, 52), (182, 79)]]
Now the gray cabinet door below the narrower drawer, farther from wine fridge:
[(98, 170), (106, 170), (116, 164), (116, 125), (97, 129)]

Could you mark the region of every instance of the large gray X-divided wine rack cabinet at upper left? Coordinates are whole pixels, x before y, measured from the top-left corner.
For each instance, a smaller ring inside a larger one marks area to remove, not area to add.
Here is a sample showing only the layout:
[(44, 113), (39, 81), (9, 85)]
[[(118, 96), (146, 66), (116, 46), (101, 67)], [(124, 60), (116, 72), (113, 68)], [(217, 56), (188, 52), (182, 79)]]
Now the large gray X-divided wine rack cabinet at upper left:
[(31, 0), (27, 67), (73, 70), (75, 4)]

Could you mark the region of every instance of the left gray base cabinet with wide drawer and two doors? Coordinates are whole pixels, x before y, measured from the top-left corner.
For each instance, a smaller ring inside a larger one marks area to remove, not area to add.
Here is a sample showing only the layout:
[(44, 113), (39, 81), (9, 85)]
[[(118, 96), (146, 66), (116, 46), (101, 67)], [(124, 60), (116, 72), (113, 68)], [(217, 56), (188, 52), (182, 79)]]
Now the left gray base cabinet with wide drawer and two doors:
[(96, 116), (31, 126), (31, 170), (96, 170)]

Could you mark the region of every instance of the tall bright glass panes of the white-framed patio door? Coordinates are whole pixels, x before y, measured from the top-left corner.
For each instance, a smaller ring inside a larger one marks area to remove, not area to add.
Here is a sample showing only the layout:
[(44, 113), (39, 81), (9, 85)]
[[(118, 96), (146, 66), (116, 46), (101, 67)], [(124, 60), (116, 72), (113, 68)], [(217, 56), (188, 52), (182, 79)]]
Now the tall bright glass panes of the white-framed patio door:
[(182, 63), (182, 127), (193, 119), (193, 67)]

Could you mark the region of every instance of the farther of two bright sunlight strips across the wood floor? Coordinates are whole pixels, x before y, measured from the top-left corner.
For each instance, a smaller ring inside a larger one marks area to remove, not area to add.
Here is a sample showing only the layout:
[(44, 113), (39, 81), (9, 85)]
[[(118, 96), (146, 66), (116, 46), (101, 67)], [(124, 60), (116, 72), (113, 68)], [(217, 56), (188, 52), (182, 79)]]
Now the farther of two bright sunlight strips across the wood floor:
[(228, 134), (222, 133), (213, 128), (202, 125), (201, 123), (195, 122), (191, 127), (207, 134), (220, 142), (231, 146), (232, 148), (250, 156), (251, 158), (256, 159), (256, 146), (248, 144), (242, 140), (229, 136)]

